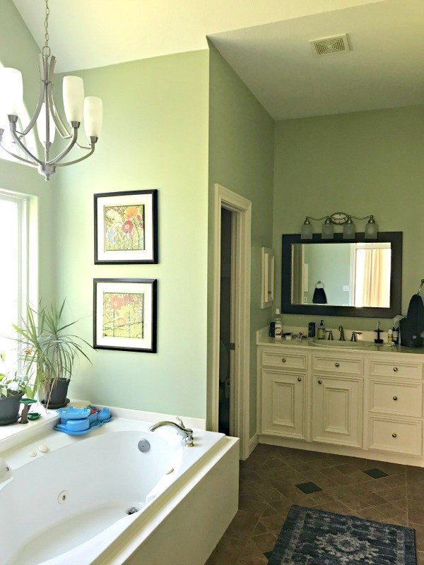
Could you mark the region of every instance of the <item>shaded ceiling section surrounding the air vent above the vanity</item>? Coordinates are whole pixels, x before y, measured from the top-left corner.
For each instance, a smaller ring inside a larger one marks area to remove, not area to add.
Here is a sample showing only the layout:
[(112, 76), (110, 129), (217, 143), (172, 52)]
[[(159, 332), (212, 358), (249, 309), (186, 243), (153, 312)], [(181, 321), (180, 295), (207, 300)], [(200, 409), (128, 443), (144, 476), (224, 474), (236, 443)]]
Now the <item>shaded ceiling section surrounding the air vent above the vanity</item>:
[[(351, 52), (310, 40), (347, 32)], [(424, 103), (424, 1), (388, 0), (209, 36), (274, 119)]]

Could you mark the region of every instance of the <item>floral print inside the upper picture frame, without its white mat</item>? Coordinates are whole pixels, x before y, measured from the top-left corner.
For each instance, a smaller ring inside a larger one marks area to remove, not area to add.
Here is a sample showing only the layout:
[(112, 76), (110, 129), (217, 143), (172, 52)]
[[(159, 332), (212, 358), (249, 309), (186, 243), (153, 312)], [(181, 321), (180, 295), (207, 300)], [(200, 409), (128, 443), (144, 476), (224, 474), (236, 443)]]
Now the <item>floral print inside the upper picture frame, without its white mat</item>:
[(105, 251), (144, 249), (144, 204), (105, 206)]

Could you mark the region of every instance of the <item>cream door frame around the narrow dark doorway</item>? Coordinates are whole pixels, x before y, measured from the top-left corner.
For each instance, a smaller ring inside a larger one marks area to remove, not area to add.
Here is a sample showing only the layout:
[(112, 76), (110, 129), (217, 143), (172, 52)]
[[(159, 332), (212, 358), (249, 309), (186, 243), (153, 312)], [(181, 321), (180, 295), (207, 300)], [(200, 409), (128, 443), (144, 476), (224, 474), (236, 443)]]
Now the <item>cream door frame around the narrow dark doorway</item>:
[(220, 237), (221, 208), (233, 213), (235, 229), (234, 302), (234, 434), (240, 437), (240, 457), (249, 456), (249, 386), (250, 386), (250, 272), (252, 202), (220, 184), (214, 185), (213, 218), (213, 352), (211, 386), (211, 424), (218, 432), (219, 415), (219, 344), (220, 344)]

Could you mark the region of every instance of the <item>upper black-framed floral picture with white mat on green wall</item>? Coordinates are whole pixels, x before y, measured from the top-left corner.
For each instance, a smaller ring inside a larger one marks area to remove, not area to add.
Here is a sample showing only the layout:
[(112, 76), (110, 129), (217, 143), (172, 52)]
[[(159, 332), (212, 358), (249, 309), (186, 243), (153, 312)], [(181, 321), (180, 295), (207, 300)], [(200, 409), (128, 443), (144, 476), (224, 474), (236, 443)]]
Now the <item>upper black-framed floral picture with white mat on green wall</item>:
[(94, 195), (94, 262), (158, 263), (158, 191)]

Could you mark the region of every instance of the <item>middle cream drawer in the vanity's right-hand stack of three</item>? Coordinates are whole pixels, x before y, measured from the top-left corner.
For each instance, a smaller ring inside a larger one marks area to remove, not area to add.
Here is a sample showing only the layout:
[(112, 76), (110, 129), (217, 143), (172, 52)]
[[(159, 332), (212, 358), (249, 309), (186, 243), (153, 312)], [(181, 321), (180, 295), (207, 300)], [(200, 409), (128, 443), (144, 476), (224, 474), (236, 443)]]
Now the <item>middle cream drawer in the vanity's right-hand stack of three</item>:
[(423, 415), (423, 383), (371, 379), (370, 410), (420, 418)]

